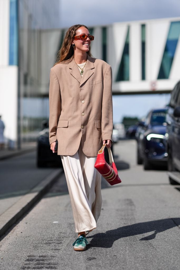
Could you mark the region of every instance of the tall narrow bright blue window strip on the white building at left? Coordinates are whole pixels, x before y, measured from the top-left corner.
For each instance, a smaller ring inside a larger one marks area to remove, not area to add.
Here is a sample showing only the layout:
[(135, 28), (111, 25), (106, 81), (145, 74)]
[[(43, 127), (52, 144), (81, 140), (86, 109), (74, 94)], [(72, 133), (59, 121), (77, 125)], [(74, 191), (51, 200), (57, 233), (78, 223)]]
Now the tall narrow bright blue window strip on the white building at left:
[(18, 3), (10, 0), (9, 65), (18, 65)]

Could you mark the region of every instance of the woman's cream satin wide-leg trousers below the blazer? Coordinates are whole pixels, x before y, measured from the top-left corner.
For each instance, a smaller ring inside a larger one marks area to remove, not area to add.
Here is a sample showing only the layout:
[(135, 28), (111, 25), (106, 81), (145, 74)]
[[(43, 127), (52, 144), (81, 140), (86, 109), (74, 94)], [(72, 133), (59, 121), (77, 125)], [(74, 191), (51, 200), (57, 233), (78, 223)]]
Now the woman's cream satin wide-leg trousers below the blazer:
[(96, 228), (100, 216), (101, 174), (94, 168), (96, 157), (87, 157), (81, 148), (73, 156), (61, 156), (69, 190), (75, 231)]

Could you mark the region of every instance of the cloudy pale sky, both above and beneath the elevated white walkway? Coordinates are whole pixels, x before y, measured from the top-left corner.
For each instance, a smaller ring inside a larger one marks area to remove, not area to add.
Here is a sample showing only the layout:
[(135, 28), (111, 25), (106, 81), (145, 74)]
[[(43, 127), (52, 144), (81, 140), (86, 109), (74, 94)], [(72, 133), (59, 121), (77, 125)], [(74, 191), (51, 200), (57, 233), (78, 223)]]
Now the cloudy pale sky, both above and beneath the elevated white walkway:
[[(60, 0), (61, 28), (179, 16), (180, 0)], [(152, 108), (164, 107), (169, 99), (170, 94), (113, 96), (114, 123), (121, 122), (123, 116), (142, 118)]]

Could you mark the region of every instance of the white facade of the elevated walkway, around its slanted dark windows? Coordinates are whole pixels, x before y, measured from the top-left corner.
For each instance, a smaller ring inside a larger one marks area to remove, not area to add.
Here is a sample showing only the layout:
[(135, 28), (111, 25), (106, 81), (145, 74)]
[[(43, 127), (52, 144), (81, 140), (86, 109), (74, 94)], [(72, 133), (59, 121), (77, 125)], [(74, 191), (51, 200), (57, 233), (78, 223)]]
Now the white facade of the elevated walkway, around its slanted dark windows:
[[(158, 79), (159, 70), (168, 39), (168, 33), (172, 22), (180, 21), (180, 18), (166, 18), (146, 21), (115, 23), (109, 26), (120, 35), (113, 39), (109, 36), (110, 48), (108, 49), (108, 62), (113, 69), (113, 93), (155, 93), (169, 92), (179, 80), (180, 41), (176, 46), (168, 79)], [(141, 25), (145, 24), (145, 80), (141, 79)], [(127, 28), (130, 27), (129, 36), (129, 80), (116, 82), (117, 72), (120, 66)], [(117, 35), (116, 35), (117, 36)], [(114, 53), (112, 53), (114, 52)]]

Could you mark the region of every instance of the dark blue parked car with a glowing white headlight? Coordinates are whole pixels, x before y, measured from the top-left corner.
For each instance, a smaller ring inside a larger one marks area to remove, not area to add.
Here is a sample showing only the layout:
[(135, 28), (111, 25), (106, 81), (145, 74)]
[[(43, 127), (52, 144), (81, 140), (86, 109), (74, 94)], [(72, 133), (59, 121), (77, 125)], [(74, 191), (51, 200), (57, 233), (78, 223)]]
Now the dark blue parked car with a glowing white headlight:
[(151, 110), (138, 129), (137, 163), (143, 163), (144, 170), (152, 165), (167, 165), (166, 113), (167, 109)]

